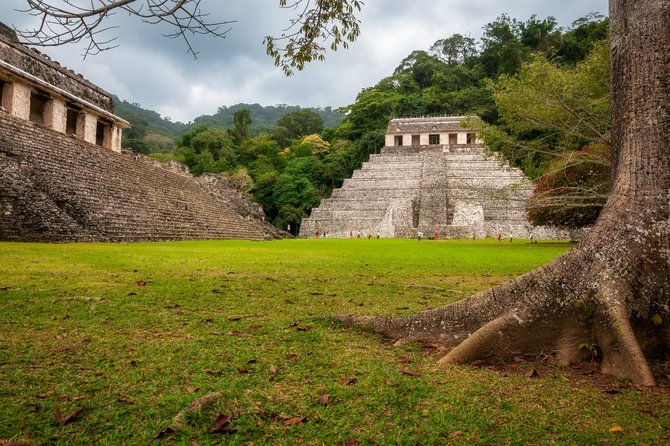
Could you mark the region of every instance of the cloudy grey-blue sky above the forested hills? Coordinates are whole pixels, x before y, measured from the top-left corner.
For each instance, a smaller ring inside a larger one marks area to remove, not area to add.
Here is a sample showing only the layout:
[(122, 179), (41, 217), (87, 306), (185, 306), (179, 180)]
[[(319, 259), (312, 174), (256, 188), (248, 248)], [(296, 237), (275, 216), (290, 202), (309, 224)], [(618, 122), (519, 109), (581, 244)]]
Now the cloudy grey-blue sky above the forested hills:
[[(53, 0), (54, 2), (57, 0)], [(83, 3), (86, 3), (84, 1)], [(83, 43), (42, 48), (62, 65), (83, 74), (121, 99), (141, 104), (174, 121), (213, 114), (221, 105), (339, 107), (363, 89), (392, 74), (414, 50), (427, 50), (454, 33), (479, 39), (482, 27), (502, 13), (527, 20), (553, 16), (563, 27), (591, 12), (607, 14), (607, 0), (365, 0), (359, 14), (361, 36), (348, 50), (330, 53), (303, 72), (286, 77), (265, 54), (266, 35), (279, 36), (291, 11), (278, 0), (202, 0), (211, 17), (234, 20), (225, 39), (199, 36), (198, 59), (182, 41), (162, 37), (165, 30), (117, 14), (119, 47), (82, 58)], [(2, 0), (5, 24), (25, 28), (34, 18), (26, 0)]]

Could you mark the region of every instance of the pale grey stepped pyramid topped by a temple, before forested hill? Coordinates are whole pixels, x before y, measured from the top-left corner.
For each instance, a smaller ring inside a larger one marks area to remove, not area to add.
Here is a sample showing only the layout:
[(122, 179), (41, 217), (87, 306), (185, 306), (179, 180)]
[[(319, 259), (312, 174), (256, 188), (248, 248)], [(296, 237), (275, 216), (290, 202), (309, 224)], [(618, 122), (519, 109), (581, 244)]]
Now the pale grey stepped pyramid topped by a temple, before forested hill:
[(533, 227), (526, 217), (532, 184), (519, 169), (488, 154), (465, 117), (390, 121), (385, 146), (344, 180), (309, 218), (300, 236), (569, 238)]

